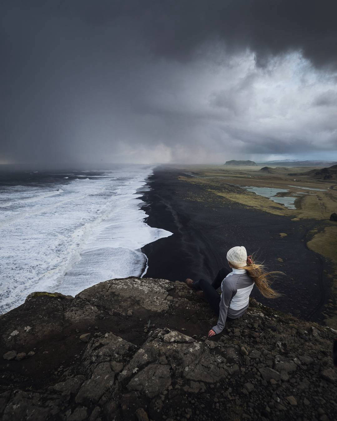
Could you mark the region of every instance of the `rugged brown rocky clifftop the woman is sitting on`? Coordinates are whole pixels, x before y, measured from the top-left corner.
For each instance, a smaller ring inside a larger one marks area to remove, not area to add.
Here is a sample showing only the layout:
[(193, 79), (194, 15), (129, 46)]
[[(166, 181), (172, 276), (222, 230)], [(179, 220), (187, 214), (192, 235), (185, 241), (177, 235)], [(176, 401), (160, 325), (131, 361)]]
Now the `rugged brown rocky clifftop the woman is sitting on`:
[(181, 282), (33, 293), (0, 317), (0, 416), (22, 420), (334, 420), (337, 332), (262, 306), (221, 335)]

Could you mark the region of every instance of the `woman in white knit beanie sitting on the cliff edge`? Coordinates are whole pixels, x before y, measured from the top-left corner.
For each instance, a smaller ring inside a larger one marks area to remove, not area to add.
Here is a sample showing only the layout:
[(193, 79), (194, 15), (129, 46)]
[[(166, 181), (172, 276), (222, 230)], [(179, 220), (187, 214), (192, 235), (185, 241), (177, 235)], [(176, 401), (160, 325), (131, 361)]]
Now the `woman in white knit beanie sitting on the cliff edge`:
[[(193, 281), (187, 278), (185, 281), (199, 296), (206, 298), (215, 314), (219, 316), (217, 325), (211, 328), (208, 336), (221, 333), (227, 317), (237, 319), (246, 312), (254, 284), (266, 298), (276, 298), (281, 295), (270, 288), (268, 277), (282, 272), (265, 272), (261, 264), (254, 263), (251, 256), (247, 257), (243, 245), (228, 250), (227, 261), (232, 272), (223, 267), (211, 284), (204, 279)], [(217, 293), (220, 286), (221, 296)]]

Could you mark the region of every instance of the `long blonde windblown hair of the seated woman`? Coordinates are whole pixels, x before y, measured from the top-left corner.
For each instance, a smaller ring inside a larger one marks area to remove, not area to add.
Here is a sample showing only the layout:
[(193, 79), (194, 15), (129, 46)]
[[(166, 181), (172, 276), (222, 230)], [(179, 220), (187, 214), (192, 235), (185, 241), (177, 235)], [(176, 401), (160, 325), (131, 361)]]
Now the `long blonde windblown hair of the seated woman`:
[(278, 293), (277, 291), (271, 288), (271, 284), (273, 283), (273, 279), (277, 275), (284, 275), (283, 272), (273, 271), (267, 272), (266, 268), (261, 263), (255, 263), (253, 259), (253, 255), (251, 256), (252, 263), (247, 263), (246, 266), (238, 267), (233, 265), (232, 263), (230, 266), (234, 267), (235, 269), (246, 269), (247, 274), (254, 280), (255, 285), (259, 288), (260, 293), (266, 298), (277, 298), (280, 297), (282, 294)]

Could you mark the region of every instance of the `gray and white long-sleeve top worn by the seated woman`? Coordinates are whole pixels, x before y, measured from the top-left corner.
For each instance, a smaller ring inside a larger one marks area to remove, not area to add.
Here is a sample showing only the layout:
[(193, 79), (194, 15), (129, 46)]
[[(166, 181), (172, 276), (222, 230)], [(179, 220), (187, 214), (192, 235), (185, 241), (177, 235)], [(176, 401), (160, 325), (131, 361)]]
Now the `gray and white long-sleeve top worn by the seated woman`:
[(227, 315), (237, 319), (248, 309), (249, 295), (254, 287), (254, 281), (247, 274), (246, 269), (232, 269), (221, 282), (221, 301), (219, 320), (213, 330), (216, 334), (225, 328)]

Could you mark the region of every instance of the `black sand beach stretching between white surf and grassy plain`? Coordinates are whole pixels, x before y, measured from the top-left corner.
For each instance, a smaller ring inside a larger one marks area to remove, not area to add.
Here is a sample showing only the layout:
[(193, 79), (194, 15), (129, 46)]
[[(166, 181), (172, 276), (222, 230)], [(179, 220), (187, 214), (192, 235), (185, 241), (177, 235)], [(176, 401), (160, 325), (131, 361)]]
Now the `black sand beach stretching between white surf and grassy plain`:
[(273, 284), (283, 297), (268, 300), (254, 288), (254, 298), (305, 320), (323, 320), (321, 312), (329, 298), (325, 263), (306, 247), (306, 236), (315, 221), (291, 221), (218, 199), (198, 185), (179, 180), (179, 175), (186, 173), (170, 166), (157, 167), (149, 179), (152, 190), (144, 193), (147, 224), (173, 232), (142, 249), (149, 259), (145, 276), (211, 281), (227, 265), (227, 250), (244, 245), (249, 254), (257, 252), (268, 269), (286, 274)]

